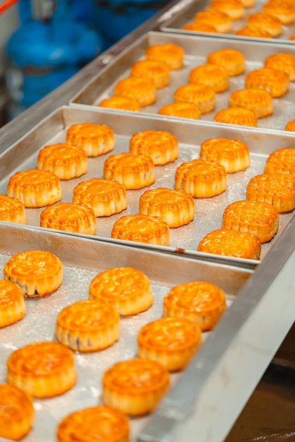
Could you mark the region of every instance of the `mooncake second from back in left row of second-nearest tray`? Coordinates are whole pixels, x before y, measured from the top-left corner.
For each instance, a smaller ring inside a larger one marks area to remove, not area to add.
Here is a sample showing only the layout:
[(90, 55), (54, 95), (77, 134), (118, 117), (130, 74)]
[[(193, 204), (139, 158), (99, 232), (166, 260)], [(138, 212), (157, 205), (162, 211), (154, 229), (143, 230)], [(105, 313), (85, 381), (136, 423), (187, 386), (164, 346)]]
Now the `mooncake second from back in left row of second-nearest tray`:
[(47, 145), (39, 152), (37, 167), (51, 170), (59, 179), (80, 177), (87, 172), (87, 153), (67, 143)]

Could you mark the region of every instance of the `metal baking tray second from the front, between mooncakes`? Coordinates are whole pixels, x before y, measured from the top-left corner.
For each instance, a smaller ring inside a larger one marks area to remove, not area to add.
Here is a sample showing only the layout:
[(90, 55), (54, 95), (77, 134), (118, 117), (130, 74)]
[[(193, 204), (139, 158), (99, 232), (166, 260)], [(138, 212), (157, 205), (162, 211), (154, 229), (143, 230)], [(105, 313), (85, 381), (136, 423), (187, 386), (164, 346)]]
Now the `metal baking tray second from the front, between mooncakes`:
[[(65, 106), (57, 109), (47, 118), (40, 121), (32, 131), (21, 138), (10, 148), (0, 153), (0, 193), (6, 193), (9, 177), (18, 170), (26, 170), (37, 167), (37, 155), (44, 145), (66, 141), (66, 129), (71, 124), (83, 122), (95, 122), (107, 124), (115, 133), (115, 148), (107, 154), (96, 158), (88, 158), (88, 173), (80, 178), (61, 181), (62, 202), (71, 202), (73, 188), (80, 181), (92, 177), (103, 177), (103, 163), (108, 155), (128, 152), (128, 142), (133, 133), (146, 129), (167, 130), (174, 133), (179, 141), (179, 158), (165, 166), (156, 167), (156, 181), (150, 187), (140, 190), (129, 190), (127, 194), (128, 207), (121, 213), (111, 217), (97, 218), (96, 239), (120, 242), (122, 244), (139, 245), (159, 251), (171, 253), (187, 253), (191, 256), (217, 259), (217, 256), (208, 253), (197, 252), (198, 243), (205, 234), (220, 228), (224, 208), (233, 201), (246, 198), (246, 184), (255, 174), (263, 172), (265, 159), (277, 148), (295, 146), (295, 136), (289, 133), (284, 135), (270, 131), (251, 131), (248, 129), (234, 129), (230, 126), (212, 126), (210, 124), (195, 124), (190, 120), (175, 121), (171, 119), (157, 119), (144, 114), (116, 114), (102, 108)], [(135, 243), (112, 239), (112, 226), (122, 215), (138, 213), (140, 195), (147, 189), (155, 189), (159, 186), (174, 189), (174, 172), (176, 167), (183, 161), (198, 158), (200, 143), (207, 138), (224, 136), (227, 138), (239, 138), (246, 143), (251, 152), (251, 166), (243, 172), (227, 175), (227, 191), (213, 198), (195, 199), (195, 218), (193, 222), (177, 229), (170, 229), (170, 244), (167, 246), (153, 246), (151, 244)], [(40, 213), (44, 208), (26, 208), (28, 225), (39, 227)], [(275, 237), (262, 245), (261, 259), (265, 257), (273, 244), (279, 239), (284, 228), (291, 222), (294, 212), (280, 215), (279, 231)], [(223, 257), (225, 260), (237, 263), (237, 265), (255, 266), (258, 261)]]

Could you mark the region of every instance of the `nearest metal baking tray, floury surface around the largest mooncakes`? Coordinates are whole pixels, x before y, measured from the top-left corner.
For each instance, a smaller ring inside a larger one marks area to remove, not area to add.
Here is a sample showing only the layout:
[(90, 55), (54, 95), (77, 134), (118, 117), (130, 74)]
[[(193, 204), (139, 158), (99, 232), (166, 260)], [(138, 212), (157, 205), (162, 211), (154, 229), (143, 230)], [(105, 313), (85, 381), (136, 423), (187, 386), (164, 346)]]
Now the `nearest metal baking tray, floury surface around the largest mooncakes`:
[[(64, 395), (34, 400), (35, 424), (30, 434), (22, 439), (23, 442), (54, 442), (54, 431), (60, 419), (75, 410), (102, 405), (102, 374), (115, 362), (136, 357), (138, 330), (145, 323), (162, 316), (162, 299), (171, 287), (193, 280), (213, 282), (224, 289), (230, 307), (252, 274), (251, 270), (0, 222), (0, 277), (4, 277), (2, 269), (8, 258), (14, 253), (30, 249), (46, 250), (59, 256), (63, 263), (64, 278), (59, 289), (51, 296), (26, 299), (24, 318), (0, 329), (1, 383), (6, 381), (6, 360), (13, 350), (35, 341), (56, 340), (54, 328), (57, 314), (68, 304), (88, 299), (90, 281), (97, 273), (116, 266), (138, 268), (149, 277), (155, 300), (147, 311), (121, 317), (120, 338), (112, 347), (89, 354), (74, 352), (78, 371), (76, 386)], [(203, 333), (203, 345), (209, 335)], [(185, 371), (172, 374), (171, 386), (183, 374)], [(131, 419), (131, 441), (136, 440), (149, 419), (149, 416)]]

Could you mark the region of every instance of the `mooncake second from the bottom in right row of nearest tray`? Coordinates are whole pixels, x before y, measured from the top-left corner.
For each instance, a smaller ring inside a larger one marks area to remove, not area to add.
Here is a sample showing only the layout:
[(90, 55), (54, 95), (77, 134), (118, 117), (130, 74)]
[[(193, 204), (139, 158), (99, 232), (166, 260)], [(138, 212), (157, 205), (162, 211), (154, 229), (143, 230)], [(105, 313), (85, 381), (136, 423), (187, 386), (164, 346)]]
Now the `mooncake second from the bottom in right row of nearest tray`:
[(102, 377), (104, 405), (126, 414), (146, 414), (169, 388), (169, 371), (159, 362), (135, 358), (116, 362)]

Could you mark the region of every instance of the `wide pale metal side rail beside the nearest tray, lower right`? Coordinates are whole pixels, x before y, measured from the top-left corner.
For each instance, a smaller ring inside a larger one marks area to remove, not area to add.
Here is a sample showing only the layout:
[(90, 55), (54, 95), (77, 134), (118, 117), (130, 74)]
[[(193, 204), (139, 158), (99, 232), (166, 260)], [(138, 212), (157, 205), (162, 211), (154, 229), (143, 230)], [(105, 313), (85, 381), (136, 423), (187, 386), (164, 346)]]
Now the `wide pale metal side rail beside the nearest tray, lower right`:
[(224, 441), (294, 323), (294, 244), (289, 225), (138, 442)]

